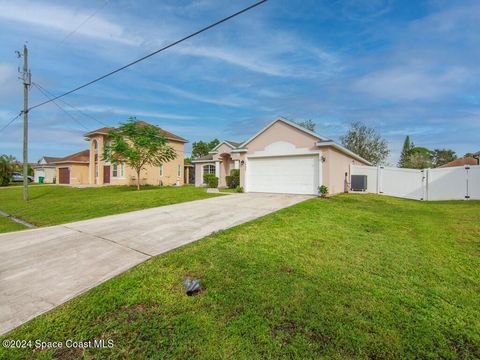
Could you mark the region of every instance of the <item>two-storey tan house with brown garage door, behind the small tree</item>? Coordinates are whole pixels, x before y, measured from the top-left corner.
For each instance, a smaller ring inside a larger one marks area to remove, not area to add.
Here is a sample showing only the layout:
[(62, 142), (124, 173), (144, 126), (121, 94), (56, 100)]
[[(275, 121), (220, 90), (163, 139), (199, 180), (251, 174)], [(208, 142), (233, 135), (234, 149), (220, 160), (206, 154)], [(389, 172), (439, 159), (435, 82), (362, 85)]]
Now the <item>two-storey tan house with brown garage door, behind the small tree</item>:
[[(139, 121), (140, 124), (147, 124)], [(105, 144), (109, 141), (108, 132), (113, 128), (100, 128), (85, 134), (89, 150), (84, 150), (58, 160), (57, 179), (59, 184), (71, 185), (134, 185), (136, 171), (123, 163), (112, 164), (102, 160)], [(143, 185), (183, 185), (184, 184), (184, 138), (158, 128), (158, 132), (168, 139), (168, 145), (175, 149), (177, 158), (160, 166), (145, 166), (141, 171)]]

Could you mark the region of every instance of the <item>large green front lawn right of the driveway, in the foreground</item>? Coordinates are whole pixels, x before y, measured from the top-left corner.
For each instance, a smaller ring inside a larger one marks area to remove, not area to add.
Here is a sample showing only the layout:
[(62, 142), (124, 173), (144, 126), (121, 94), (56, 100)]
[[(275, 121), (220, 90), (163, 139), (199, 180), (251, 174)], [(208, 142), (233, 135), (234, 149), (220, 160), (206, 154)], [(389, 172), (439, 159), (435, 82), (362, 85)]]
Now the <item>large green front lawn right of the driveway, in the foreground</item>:
[[(479, 358), (480, 202), (312, 199), (171, 251), (10, 332), (40, 358)], [(204, 291), (184, 295), (182, 279)]]

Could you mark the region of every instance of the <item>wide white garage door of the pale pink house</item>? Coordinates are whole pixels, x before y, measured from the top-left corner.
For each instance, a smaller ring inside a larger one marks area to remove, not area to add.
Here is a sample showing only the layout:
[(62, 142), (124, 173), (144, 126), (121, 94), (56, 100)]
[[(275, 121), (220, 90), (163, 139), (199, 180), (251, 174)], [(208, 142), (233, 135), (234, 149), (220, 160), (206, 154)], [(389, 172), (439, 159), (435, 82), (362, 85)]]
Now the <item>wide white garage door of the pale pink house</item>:
[(318, 155), (249, 158), (246, 190), (317, 194), (318, 166)]

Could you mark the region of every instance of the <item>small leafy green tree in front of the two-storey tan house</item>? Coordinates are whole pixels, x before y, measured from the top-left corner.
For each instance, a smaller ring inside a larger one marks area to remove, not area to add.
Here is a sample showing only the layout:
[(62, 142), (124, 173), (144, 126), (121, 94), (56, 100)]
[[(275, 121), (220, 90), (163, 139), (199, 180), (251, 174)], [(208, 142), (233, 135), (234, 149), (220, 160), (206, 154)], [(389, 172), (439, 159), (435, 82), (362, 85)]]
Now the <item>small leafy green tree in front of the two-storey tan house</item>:
[(140, 190), (140, 172), (145, 166), (160, 166), (177, 157), (168, 140), (158, 127), (130, 118), (108, 133), (111, 141), (105, 145), (103, 160), (125, 163), (137, 173), (137, 190)]

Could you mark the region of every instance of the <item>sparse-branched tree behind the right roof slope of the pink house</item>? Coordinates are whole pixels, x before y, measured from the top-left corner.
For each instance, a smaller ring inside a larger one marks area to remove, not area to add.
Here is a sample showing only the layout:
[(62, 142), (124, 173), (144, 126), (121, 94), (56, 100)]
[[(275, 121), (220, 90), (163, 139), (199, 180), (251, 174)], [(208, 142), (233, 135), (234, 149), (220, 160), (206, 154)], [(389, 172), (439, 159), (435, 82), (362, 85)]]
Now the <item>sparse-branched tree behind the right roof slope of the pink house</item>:
[(342, 145), (374, 165), (385, 163), (390, 150), (385, 139), (373, 128), (360, 121), (353, 122), (345, 136), (340, 138)]

